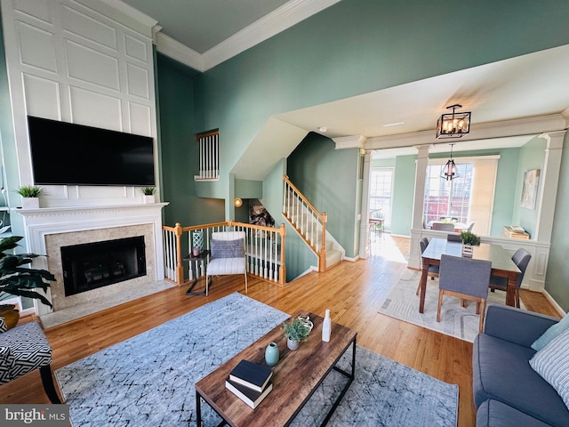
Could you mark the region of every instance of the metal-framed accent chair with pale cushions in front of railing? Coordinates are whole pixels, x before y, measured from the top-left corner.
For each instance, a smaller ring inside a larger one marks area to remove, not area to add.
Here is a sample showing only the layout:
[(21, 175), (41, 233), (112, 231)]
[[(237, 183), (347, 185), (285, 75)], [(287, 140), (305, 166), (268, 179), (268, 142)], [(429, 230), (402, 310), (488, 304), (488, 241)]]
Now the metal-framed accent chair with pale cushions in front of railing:
[(212, 233), (210, 262), (205, 270), (205, 294), (209, 292), (212, 276), (243, 274), (247, 290), (247, 258), (245, 256), (244, 231), (219, 231)]

